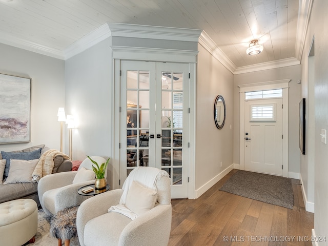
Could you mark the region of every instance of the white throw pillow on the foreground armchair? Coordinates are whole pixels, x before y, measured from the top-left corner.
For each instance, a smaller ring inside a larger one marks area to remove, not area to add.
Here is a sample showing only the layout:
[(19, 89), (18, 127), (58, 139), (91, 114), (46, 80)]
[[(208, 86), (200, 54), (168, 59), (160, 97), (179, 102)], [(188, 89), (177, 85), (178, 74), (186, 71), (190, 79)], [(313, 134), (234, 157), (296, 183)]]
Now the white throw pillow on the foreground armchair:
[(125, 206), (140, 216), (155, 207), (157, 192), (133, 181), (129, 187)]

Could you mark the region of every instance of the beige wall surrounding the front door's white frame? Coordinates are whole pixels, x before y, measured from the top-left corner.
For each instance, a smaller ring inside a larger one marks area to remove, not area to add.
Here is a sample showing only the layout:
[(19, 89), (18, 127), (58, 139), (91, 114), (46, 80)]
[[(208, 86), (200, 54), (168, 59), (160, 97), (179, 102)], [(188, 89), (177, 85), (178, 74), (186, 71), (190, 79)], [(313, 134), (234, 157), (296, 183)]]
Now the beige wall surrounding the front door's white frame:
[(301, 86), (297, 84), (300, 79), (300, 65), (268, 69), (258, 72), (237, 74), (234, 76), (234, 163), (239, 164), (239, 117), (240, 102), (238, 85), (260, 83), (281, 79), (291, 79), (289, 83), (289, 172), (298, 175), (300, 173), (299, 150), (299, 120), (298, 103), (301, 95)]

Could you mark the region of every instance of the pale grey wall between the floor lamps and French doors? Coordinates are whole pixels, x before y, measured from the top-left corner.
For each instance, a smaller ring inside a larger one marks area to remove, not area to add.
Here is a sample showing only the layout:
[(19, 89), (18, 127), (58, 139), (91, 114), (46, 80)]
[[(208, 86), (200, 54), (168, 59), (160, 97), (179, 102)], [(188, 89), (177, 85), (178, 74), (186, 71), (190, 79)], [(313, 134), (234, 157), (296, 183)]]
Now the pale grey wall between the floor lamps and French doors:
[[(65, 62), (66, 113), (76, 118), (72, 129), (73, 160), (112, 155), (112, 57), (109, 40)], [(66, 135), (67, 136), (67, 135)], [(66, 137), (66, 150), (68, 150)], [(107, 177), (111, 177), (109, 165)], [(108, 178), (110, 182), (111, 178)]]

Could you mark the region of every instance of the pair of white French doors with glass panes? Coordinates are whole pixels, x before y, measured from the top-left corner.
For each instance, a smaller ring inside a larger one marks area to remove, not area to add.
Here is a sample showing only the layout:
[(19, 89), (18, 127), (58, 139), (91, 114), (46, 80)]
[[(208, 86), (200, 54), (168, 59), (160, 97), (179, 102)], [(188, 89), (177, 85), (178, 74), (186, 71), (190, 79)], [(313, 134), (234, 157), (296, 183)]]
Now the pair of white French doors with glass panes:
[(120, 183), (136, 167), (165, 170), (188, 197), (189, 64), (120, 64)]

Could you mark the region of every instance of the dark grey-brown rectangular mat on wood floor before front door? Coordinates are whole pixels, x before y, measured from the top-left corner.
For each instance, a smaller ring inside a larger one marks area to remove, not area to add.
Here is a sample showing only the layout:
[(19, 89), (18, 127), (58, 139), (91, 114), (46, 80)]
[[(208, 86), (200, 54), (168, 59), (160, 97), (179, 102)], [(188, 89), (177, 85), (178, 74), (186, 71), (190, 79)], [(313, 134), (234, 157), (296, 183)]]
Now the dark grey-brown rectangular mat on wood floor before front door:
[(238, 170), (219, 190), (288, 209), (294, 205), (290, 178)]

